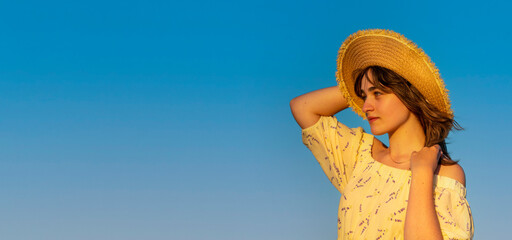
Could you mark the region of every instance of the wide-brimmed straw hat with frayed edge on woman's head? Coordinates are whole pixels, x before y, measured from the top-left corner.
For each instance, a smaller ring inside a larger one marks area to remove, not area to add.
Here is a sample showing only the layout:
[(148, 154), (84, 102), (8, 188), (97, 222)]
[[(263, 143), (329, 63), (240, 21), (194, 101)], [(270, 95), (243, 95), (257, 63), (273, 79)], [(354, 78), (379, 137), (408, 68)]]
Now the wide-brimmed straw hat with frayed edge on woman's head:
[(336, 81), (350, 107), (366, 119), (364, 101), (354, 92), (353, 72), (377, 65), (393, 70), (414, 85), (442, 112), (453, 116), (443, 79), (430, 58), (403, 35), (391, 30), (369, 29), (350, 35), (338, 51)]

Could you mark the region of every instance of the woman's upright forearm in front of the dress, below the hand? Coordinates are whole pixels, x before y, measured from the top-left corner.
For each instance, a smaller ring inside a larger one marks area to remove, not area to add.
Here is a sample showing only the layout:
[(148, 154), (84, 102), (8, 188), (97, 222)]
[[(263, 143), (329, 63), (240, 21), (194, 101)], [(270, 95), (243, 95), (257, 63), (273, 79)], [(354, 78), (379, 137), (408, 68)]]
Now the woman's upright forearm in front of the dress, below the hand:
[(434, 173), (429, 170), (412, 172), (405, 216), (406, 240), (443, 239), (434, 207), (433, 181)]

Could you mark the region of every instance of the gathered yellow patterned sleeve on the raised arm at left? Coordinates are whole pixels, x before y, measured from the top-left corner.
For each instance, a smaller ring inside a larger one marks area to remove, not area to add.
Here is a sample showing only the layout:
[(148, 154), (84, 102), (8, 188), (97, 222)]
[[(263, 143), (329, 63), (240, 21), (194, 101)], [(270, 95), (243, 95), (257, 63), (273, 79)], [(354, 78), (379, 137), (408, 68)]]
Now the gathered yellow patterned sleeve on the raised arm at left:
[(362, 137), (361, 127), (348, 128), (332, 116), (322, 116), (313, 126), (302, 130), (302, 142), (340, 192), (355, 168)]

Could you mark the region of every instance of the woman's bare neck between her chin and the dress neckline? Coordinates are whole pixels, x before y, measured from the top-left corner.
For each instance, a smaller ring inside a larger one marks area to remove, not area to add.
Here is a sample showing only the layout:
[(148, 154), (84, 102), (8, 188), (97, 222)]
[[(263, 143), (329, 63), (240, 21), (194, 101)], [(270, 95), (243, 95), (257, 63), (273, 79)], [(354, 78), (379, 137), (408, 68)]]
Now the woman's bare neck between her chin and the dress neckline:
[(425, 146), (425, 133), (414, 114), (398, 129), (388, 133), (389, 156), (397, 164), (409, 165), (411, 154)]

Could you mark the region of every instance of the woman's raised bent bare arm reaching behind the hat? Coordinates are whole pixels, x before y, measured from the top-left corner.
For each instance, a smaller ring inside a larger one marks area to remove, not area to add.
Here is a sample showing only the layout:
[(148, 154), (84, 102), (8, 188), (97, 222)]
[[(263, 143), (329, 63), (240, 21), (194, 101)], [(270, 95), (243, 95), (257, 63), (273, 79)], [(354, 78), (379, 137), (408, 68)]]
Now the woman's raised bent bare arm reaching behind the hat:
[(322, 88), (290, 101), (293, 117), (304, 129), (313, 126), (320, 116), (332, 116), (348, 108), (348, 103), (338, 86)]

